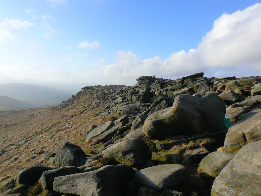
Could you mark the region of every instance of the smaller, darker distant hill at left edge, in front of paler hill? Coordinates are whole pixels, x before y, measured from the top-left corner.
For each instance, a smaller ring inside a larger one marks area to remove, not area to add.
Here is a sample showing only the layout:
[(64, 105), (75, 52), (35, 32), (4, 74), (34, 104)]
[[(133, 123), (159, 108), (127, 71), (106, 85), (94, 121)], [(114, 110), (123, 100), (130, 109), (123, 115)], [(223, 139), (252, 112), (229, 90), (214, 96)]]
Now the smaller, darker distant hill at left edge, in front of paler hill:
[(22, 109), (22, 108), (34, 108), (36, 107), (33, 104), (12, 99), (7, 96), (0, 96), (0, 110), (13, 110), (13, 109)]

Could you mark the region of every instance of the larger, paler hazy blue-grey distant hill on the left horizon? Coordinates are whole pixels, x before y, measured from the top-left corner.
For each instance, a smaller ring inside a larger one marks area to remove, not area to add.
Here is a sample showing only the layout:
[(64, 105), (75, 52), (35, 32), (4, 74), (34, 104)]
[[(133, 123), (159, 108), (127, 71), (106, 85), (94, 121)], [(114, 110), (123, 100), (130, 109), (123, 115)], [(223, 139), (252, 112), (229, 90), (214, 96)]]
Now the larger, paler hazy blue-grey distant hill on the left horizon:
[(0, 84), (0, 95), (26, 101), (35, 107), (61, 104), (73, 95), (71, 91), (44, 87), (34, 84)]

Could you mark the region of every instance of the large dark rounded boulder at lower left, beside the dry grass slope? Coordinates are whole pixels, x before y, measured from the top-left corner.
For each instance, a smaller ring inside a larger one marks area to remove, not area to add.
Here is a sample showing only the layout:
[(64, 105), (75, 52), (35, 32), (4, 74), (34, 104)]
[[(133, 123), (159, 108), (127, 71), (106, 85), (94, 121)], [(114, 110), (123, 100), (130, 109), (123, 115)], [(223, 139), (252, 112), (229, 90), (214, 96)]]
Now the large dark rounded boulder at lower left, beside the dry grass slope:
[(39, 181), (40, 177), (45, 171), (51, 170), (54, 168), (50, 168), (41, 164), (33, 164), (27, 168), (24, 168), (16, 178), (16, 186), (19, 185), (35, 185), (36, 182)]

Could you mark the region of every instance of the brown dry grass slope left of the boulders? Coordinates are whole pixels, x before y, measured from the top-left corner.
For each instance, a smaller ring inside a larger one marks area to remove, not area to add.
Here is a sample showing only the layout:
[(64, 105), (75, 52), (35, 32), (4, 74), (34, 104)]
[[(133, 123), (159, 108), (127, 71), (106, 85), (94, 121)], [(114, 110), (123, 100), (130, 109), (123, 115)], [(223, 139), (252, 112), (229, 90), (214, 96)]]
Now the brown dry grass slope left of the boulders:
[[(103, 106), (104, 99), (107, 98), (99, 97), (102, 90), (115, 92), (121, 88), (120, 86), (114, 87), (114, 90), (110, 89), (111, 86), (95, 87), (75, 96), (71, 103), (67, 102), (65, 103), (67, 105), (63, 104), (54, 108), (0, 111), (0, 125), (4, 125), (0, 126), (0, 149), (7, 151), (1, 156), (2, 173), (0, 177), (12, 176), (29, 165), (39, 164), (38, 160), (43, 155), (36, 153), (40, 150), (52, 151), (62, 141), (74, 143), (82, 149), (97, 144), (98, 139), (92, 140), (91, 143), (85, 143), (84, 134), (89, 126), (93, 124), (99, 126), (107, 119), (99, 121), (99, 118), (94, 118), (97, 109), (93, 107), (93, 104), (90, 106), (90, 103), (95, 102), (95, 104)], [(86, 121), (86, 119), (90, 120)], [(17, 149), (8, 147), (22, 139), (27, 139), (28, 142)], [(18, 153), (21, 154), (17, 159)], [(31, 160), (32, 156), (36, 156), (36, 158)]]

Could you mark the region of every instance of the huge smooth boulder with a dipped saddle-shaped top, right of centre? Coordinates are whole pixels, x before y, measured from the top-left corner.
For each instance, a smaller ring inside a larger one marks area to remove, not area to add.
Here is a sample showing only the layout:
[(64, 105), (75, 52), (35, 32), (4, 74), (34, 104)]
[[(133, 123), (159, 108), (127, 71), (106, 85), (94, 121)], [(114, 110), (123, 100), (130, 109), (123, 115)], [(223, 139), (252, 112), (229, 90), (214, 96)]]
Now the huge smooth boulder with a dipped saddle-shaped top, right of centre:
[(225, 105), (216, 94), (204, 97), (180, 95), (172, 108), (155, 112), (145, 120), (144, 133), (161, 140), (167, 135), (216, 131), (223, 126)]

